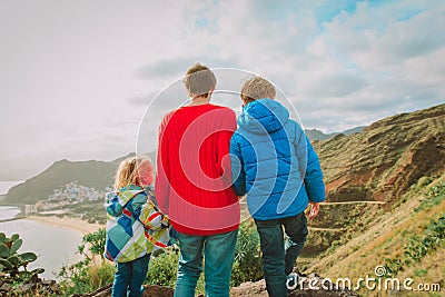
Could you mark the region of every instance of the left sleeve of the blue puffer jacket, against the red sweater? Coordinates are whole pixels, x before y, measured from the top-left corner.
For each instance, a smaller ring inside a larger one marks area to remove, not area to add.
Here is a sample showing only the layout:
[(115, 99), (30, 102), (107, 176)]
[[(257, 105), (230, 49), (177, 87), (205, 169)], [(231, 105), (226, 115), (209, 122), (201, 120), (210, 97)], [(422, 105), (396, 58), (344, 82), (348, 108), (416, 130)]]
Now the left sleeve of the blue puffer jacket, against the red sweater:
[(238, 135), (235, 133), (230, 140), (231, 180), (236, 195), (243, 196), (246, 195), (246, 174), (244, 170), (241, 149), (237, 139)]

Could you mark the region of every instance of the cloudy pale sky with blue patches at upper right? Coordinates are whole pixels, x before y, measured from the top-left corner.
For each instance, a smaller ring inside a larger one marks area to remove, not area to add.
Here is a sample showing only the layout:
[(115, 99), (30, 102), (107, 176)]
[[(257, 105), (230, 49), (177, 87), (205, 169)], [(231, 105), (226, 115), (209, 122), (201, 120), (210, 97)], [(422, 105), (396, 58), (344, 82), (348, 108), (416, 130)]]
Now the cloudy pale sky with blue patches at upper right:
[(0, 180), (156, 148), (195, 62), (217, 90), (266, 77), (324, 132), (444, 103), (443, 28), (442, 0), (0, 0)]

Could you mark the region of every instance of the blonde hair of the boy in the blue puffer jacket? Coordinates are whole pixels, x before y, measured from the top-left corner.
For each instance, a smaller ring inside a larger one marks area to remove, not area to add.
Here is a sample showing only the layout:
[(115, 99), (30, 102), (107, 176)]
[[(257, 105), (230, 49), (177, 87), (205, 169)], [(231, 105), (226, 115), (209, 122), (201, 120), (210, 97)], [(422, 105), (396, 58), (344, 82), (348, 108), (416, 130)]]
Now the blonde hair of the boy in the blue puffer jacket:
[(258, 100), (260, 98), (275, 99), (275, 87), (265, 78), (253, 77), (246, 80), (241, 86), (241, 99), (245, 103)]

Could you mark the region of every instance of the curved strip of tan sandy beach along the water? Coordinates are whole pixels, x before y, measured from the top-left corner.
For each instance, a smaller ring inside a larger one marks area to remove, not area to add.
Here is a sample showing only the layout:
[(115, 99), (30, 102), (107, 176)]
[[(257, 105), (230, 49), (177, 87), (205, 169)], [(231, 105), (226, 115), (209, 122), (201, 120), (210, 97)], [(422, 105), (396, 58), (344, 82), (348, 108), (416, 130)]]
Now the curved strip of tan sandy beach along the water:
[(53, 227), (62, 227), (71, 230), (77, 230), (85, 234), (90, 234), (99, 228), (103, 228), (105, 225), (89, 224), (80, 218), (59, 218), (56, 216), (43, 217), (43, 216), (27, 216), (26, 219), (39, 221)]

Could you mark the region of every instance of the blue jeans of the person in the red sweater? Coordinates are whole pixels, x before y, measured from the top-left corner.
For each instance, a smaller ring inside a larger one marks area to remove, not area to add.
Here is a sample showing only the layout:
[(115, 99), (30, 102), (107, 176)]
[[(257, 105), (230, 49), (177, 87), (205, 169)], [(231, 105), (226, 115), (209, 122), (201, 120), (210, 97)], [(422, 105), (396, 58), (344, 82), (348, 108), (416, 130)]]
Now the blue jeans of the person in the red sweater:
[(175, 297), (195, 297), (205, 258), (206, 297), (228, 297), (238, 230), (191, 236), (178, 232), (180, 257)]

